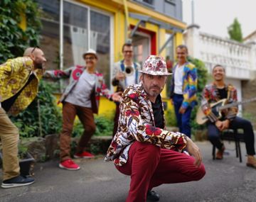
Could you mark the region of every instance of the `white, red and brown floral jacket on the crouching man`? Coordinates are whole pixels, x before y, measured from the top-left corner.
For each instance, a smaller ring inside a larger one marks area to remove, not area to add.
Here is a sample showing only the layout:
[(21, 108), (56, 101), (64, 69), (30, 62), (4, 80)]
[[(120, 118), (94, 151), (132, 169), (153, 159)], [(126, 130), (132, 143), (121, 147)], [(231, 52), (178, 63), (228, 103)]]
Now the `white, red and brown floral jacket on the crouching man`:
[(178, 152), (186, 147), (186, 135), (156, 128), (154, 125), (151, 101), (142, 84), (129, 86), (122, 96), (117, 133), (107, 150), (105, 161), (112, 160), (114, 164), (122, 166), (127, 162), (129, 147), (135, 141), (149, 142)]

